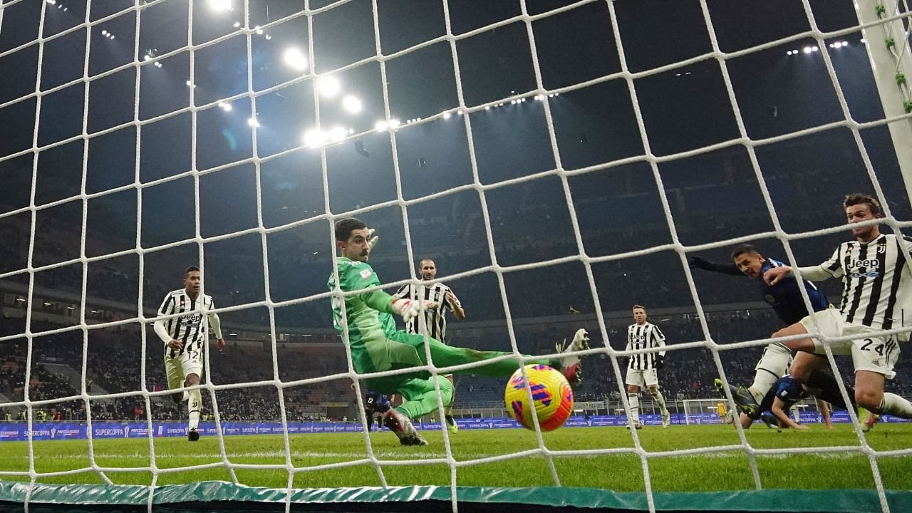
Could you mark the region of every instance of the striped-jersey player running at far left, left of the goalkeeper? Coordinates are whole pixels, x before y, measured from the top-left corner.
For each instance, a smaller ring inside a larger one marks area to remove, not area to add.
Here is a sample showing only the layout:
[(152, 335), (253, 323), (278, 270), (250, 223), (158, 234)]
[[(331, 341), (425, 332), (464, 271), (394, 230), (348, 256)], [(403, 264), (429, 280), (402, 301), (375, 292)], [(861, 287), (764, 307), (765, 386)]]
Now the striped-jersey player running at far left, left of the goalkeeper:
[[(209, 340), (209, 326), (222, 351), (225, 341), (218, 314), (212, 312), (212, 297), (200, 293), (202, 276), (199, 267), (187, 267), (183, 273), (183, 288), (173, 290), (165, 296), (159, 309), (159, 318), (153, 325), (155, 334), (165, 344), (165, 374), (168, 388), (193, 386), (200, 383), (202, 375), (202, 346)], [(177, 314), (177, 317), (164, 319)], [(175, 402), (189, 401), (187, 411), (190, 422), (187, 425), (187, 439), (196, 442), (200, 434), (202, 396), (199, 389), (189, 393), (175, 393)]]

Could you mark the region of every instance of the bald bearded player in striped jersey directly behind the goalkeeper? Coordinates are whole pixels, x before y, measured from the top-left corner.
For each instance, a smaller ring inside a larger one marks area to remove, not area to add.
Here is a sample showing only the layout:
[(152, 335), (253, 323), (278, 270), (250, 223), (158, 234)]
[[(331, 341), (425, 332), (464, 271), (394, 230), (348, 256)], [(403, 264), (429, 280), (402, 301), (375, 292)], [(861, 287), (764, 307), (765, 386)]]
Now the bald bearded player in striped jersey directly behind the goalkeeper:
[[(419, 270), (421, 279), (425, 281), (433, 281), (437, 277), (437, 264), (434, 263), (430, 258), (424, 258), (419, 262)], [(409, 333), (416, 333), (423, 335), (427, 331), (428, 336), (433, 339), (440, 340), (444, 344), (447, 343), (447, 310), (453, 312), (453, 315), (456, 316), (456, 319), (465, 319), (465, 309), (462, 308), (462, 303), (459, 298), (456, 298), (456, 295), (453, 294), (451, 288), (443, 285), (442, 283), (434, 283), (430, 286), (425, 285), (412, 285), (407, 283), (403, 285), (399, 290), (394, 294), (397, 298), (409, 298), (412, 300), (423, 299), (425, 301), (433, 301), (440, 304), (440, 308), (432, 310), (424, 310), (424, 322), (420, 322), (420, 317), (409, 320), (405, 323), (405, 330)], [(447, 374), (445, 376), (451, 383), (453, 383), (453, 375)], [(455, 383), (453, 383), (455, 385)], [(455, 401), (456, 388), (453, 387), (453, 401)], [(443, 419), (447, 424), (447, 430), (450, 433), (455, 434), (459, 432), (459, 426), (456, 425), (456, 419), (452, 415), (452, 401), (448, 404), (443, 410)]]

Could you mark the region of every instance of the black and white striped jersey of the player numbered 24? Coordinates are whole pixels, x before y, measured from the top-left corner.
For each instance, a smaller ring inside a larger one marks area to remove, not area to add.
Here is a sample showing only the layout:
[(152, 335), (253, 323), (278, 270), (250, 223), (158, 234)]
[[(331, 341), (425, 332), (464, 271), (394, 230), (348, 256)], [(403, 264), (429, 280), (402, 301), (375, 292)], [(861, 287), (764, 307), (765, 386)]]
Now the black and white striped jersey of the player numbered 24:
[[(912, 246), (912, 241), (908, 244)], [(839, 245), (820, 267), (833, 277), (843, 278), (839, 309), (845, 322), (876, 330), (908, 324), (912, 273), (906, 261), (906, 252), (892, 234), (881, 234), (868, 243)]]

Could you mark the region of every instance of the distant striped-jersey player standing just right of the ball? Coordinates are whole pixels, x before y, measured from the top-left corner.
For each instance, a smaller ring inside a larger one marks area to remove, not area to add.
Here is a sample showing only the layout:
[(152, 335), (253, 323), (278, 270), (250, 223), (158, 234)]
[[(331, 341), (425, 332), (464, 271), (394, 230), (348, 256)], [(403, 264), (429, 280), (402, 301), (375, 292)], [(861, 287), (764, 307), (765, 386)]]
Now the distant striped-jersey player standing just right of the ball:
[[(633, 306), (634, 323), (627, 327), (627, 349), (653, 349), (665, 347), (665, 335), (658, 326), (647, 322), (646, 309), (640, 305)], [(665, 361), (665, 351), (632, 354), (627, 363), (627, 402), (630, 403), (630, 424), (642, 429), (639, 422), (639, 389), (644, 385), (649, 395), (658, 403), (662, 412), (662, 427), (671, 425), (671, 415), (665, 407), (665, 397), (658, 390), (658, 370)], [(629, 426), (628, 426), (629, 427)]]

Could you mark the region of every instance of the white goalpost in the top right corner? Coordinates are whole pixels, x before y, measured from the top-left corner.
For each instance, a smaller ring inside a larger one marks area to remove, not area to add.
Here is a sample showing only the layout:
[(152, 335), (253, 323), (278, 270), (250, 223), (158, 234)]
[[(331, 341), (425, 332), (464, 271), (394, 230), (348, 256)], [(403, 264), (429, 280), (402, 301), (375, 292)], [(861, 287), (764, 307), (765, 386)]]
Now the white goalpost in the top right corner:
[[(909, 35), (903, 26), (903, 19), (883, 21), (890, 16), (903, 13), (898, 0), (855, 0), (855, 16), (862, 26), (865, 37), (867, 58), (877, 86), (877, 94), (884, 108), (886, 119), (905, 116), (904, 119), (887, 123), (890, 139), (896, 151), (896, 161), (906, 184), (906, 194), (912, 202), (912, 53), (909, 52)], [(912, 23), (906, 18), (906, 23)], [(899, 40), (900, 37), (902, 40)], [(901, 74), (901, 75), (900, 75)], [(903, 77), (900, 80), (900, 76)]]

